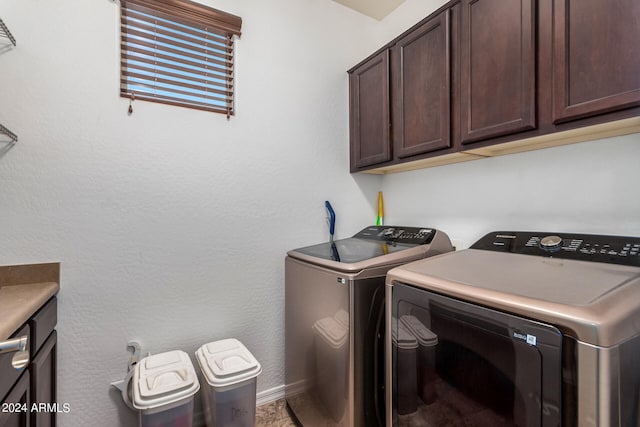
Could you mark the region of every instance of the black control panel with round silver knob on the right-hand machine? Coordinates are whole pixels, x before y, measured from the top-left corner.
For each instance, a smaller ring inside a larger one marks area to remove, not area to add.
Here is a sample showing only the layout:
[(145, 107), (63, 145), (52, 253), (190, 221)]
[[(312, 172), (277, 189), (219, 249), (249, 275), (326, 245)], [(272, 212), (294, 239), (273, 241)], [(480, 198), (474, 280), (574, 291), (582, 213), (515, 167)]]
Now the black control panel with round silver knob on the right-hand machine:
[(640, 266), (640, 237), (497, 231), (471, 249)]

